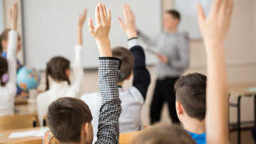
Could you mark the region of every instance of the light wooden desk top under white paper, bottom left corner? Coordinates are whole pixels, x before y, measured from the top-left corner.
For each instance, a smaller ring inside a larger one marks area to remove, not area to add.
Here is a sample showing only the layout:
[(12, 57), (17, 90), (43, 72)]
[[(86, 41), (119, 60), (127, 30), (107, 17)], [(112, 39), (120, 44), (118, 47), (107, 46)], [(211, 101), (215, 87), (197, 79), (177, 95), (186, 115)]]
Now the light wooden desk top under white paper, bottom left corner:
[[(15, 139), (9, 139), (8, 136), (10, 136), (13, 132), (19, 132), (19, 131), (28, 131), (28, 130), (40, 130), (41, 127), (35, 127), (35, 128), (22, 128), (22, 129), (15, 129), (15, 130), (0, 130), (0, 143), (7, 143), (7, 142), (18, 142), (22, 140), (29, 140), (29, 139), (42, 139), (43, 143), (43, 136), (41, 137), (23, 137), (23, 138), (15, 138)], [(2, 136), (3, 134), (3, 136)]]

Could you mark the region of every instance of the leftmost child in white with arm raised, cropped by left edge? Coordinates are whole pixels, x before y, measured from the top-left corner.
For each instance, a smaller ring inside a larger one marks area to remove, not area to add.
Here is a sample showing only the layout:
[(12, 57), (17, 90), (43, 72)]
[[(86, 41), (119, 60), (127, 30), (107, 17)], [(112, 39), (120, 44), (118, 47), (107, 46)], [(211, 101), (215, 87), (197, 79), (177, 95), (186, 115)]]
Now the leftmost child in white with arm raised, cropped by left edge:
[(0, 56), (0, 115), (14, 114), (14, 99), (17, 92), (16, 89), (16, 52), (17, 52), (17, 19), (18, 5), (10, 10), (9, 20), (11, 23), (11, 31), (8, 32), (8, 54), (7, 60)]

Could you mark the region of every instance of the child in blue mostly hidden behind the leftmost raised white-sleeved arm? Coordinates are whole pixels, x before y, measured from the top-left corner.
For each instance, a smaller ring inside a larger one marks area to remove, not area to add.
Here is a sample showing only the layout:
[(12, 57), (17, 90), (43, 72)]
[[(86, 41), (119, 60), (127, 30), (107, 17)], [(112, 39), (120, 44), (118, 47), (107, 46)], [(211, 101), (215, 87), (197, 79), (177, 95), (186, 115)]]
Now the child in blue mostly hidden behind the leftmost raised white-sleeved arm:
[[(4, 31), (2, 31), (2, 34), (0, 36), (0, 53), (2, 55), (2, 57), (7, 58), (7, 52), (8, 52), (8, 44), (9, 44), (9, 39), (8, 39), (8, 33), (9, 31), (11, 31), (11, 28), (7, 28)], [(17, 52), (20, 52), (21, 49), (21, 40), (20, 40), (20, 35), (18, 34), (18, 38), (17, 38)], [(17, 59), (17, 71), (20, 70), (20, 68), (22, 68), (23, 65), (20, 63), (20, 61)], [(23, 92), (19, 86), (17, 86), (17, 94), (18, 95), (24, 95), (27, 96), (27, 92)]]

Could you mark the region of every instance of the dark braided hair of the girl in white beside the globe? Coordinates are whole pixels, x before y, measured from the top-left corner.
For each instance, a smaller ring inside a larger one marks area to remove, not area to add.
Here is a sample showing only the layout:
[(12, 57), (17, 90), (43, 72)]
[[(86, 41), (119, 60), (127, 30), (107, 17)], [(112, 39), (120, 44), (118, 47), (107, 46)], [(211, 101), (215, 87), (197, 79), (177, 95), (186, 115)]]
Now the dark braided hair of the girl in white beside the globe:
[(66, 70), (69, 69), (69, 67), (70, 62), (68, 61), (68, 59), (62, 56), (54, 57), (50, 60), (50, 62), (47, 63), (47, 90), (49, 89), (49, 75), (53, 78), (53, 80), (68, 81), (68, 84), (71, 84), (67, 74), (65, 73)]

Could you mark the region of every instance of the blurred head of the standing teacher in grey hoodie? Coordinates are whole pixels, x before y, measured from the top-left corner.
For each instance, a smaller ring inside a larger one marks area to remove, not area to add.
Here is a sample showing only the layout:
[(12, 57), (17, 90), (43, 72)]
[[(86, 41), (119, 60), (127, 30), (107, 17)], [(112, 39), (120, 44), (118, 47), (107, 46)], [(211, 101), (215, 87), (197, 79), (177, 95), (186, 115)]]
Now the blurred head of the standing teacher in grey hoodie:
[(179, 25), (180, 14), (176, 10), (167, 10), (163, 17), (164, 30), (169, 31), (176, 29)]

